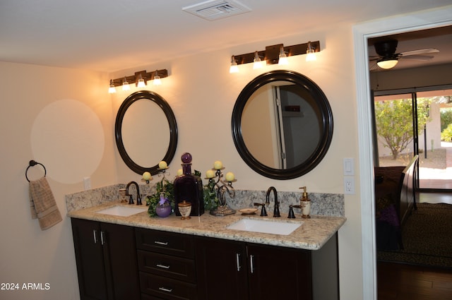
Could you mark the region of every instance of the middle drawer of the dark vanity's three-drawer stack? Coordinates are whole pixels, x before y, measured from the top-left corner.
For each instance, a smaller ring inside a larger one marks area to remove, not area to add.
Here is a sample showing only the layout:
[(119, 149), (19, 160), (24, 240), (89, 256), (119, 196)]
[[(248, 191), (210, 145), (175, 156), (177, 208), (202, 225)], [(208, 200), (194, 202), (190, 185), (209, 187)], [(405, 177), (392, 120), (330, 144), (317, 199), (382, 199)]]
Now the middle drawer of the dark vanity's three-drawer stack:
[(194, 260), (138, 250), (138, 268), (143, 272), (196, 282)]

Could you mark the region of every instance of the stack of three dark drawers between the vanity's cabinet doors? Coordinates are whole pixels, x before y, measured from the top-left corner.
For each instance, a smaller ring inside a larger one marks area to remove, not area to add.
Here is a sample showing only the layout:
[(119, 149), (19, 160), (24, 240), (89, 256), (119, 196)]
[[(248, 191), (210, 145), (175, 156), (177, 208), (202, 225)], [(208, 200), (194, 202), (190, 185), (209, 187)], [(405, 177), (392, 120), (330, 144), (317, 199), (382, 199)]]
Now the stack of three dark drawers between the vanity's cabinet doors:
[(136, 228), (142, 299), (196, 300), (193, 237)]

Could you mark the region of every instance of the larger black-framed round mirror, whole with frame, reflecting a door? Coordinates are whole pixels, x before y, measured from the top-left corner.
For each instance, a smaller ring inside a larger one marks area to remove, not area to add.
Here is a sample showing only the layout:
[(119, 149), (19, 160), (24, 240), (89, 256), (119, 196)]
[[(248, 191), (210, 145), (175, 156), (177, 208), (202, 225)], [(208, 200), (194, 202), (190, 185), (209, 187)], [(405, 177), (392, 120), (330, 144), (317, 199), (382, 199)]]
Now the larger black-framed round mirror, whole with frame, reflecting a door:
[(231, 126), (235, 147), (251, 169), (272, 179), (293, 179), (326, 155), (333, 113), (312, 80), (294, 71), (270, 71), (240, 92)]

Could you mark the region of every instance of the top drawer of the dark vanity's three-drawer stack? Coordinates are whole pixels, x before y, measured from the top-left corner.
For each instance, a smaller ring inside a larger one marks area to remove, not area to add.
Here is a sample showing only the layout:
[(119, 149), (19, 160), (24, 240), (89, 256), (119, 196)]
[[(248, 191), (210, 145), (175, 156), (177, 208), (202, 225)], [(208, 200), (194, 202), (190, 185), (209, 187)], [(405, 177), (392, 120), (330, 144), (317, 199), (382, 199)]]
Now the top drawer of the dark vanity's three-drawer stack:
[(191, 236), (136, 228), (136, 248), (186, 258), (194, 257)]

